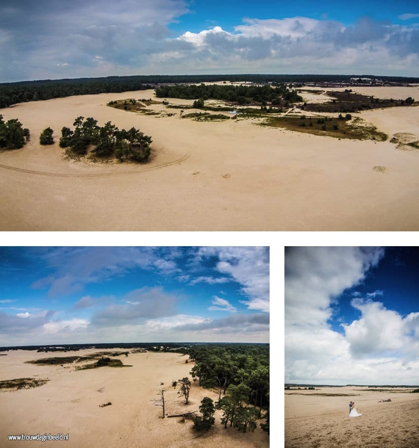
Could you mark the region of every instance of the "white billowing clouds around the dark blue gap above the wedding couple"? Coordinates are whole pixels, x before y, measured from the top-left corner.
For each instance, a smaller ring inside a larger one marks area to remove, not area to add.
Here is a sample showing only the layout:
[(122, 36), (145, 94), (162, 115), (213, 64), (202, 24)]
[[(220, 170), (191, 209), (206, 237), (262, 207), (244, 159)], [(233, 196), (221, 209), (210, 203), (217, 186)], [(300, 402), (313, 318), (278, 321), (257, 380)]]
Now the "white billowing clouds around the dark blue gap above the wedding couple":
[(416, 384), (419, 313), (403, 317), (375, 301), (384, 291), (352, 292), (360, 316), (329, 324), (331, 304), (363, 282), (380, 248), (290, 248), (285, 253), (285, 381), (317, 384)]

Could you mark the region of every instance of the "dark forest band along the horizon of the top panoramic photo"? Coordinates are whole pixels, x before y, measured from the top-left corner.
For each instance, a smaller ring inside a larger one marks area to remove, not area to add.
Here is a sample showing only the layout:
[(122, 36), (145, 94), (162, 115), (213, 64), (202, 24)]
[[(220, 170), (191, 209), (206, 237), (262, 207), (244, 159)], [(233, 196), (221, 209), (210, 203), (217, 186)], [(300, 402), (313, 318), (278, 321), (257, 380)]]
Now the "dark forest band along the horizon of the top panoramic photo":
[(313, 75), (313, 74), (218, 74), (218, 75), (142, 75), (107, 76), (103, 78), (44, 79), (0, 84), (0, 108), (27, 101), (61, 98), (73, 95), (95, 95), (152, 89), (165, 83), (203, 83), (217, 81), (255, 83), (349, 82), (355, 77), (380, 78), (387, 82), (418, 83), (419, 78), (373, 75)]

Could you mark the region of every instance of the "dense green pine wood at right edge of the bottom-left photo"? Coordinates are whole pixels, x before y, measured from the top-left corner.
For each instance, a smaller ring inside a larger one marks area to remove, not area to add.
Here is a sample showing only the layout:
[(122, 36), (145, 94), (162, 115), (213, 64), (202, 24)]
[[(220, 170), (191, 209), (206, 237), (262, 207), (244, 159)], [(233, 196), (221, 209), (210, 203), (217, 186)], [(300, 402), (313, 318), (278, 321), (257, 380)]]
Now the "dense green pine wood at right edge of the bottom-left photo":
[(189, 356), (195, 359), (190, 372), (194, 381), (218, 388), (215, 409), (223, 411), (221, 422), (225, 428), (230, 424), (243, 432), (253, 431), (262, 409), (268, 409), (261, 426), (269, 433), (268, 345), (194, 346)]

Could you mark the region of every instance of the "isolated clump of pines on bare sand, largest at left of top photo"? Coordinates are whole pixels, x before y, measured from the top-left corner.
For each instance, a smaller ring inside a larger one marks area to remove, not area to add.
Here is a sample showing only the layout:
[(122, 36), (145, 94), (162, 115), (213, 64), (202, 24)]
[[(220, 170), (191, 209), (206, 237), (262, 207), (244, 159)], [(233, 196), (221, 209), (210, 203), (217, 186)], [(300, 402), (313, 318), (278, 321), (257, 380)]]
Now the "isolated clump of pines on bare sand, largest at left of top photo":
[(92, 117), (77, 117), (73, 123), (74, 130), (61, 129), (60, 146), (70, 148), (75, 154), (86, 154), (90, 145), (95, 148), (92, 153), (99, 157), (114, 155), (119, 161), (135, 160), (143, 162), (150, 156), (151, 137), (140, 129), (118, 129), (110, 121), (105, 126), (98, 126)]

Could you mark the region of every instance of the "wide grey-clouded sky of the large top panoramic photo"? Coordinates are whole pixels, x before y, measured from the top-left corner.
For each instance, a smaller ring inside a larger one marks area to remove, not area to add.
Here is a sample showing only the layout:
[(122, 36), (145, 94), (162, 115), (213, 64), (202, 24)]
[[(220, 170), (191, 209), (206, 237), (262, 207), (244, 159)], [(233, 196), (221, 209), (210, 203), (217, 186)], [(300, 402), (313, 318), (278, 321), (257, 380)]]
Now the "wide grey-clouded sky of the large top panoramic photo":
[(134, 74), (417, 76), (413, 0), (2, 0), (0, 82)]

